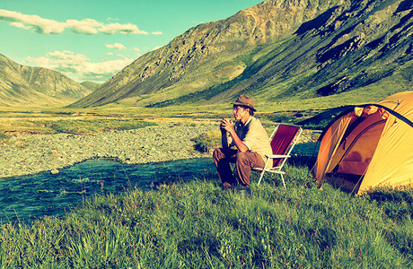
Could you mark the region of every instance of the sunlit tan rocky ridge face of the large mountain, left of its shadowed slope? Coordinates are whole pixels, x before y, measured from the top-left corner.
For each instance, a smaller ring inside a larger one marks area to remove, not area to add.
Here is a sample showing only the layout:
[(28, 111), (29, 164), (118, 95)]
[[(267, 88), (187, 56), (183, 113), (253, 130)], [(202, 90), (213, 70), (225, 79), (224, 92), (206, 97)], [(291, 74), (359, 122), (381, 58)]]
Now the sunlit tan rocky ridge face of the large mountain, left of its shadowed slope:
[[(144, 102), (141, 103), (145, 104), (145, 99), (154, 91), (157, 91), (155, 99), (162, 99), (163, 95), (179, 97), (182, 93), (190, 94), (206, 90), (216, 83), (231, 81), (242, 74), (246, 67), (241, 62), (231, 63), (237, 56), (268, 40), (286, 38), (292, 28), (299, 28), (299, 22), (309, 20), (324, 9), (344, 1), (330, 3), (313, 0), (308, 8), (306, 4), (309, 1), (298, 1), (301, 3), (301, 13), (296, 13), (294, 2), (266, 1), (226, 20), (191, 28), (163, 48), (139, 57), (73, 106), (102, 105), (128, 97), (142, 98)], [(278, 17), (287, 22), (272, 19)], [(203, 68), (206, 61), (207, 68)], [(217, 69), (224, 63), (228, 65)], [(171, 88), (175, 91), (171, 91)]]

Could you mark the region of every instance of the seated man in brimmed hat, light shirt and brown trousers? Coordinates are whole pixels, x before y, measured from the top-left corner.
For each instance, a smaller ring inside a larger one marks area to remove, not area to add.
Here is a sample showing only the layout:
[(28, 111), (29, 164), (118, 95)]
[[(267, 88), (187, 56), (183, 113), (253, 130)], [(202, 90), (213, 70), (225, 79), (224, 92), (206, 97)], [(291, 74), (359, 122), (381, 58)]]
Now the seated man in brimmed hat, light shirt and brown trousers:
[(264, 168), (267, 161), (265, 155), (272, 154), (267, 131), (259, 119), (253, 117), (255, 111), (254, 100), (242, 94), (233, 103), (233, 117), (237, 120), (235, 126), (232, 120), (221, 120), (222, 148), (216, 149), (213, 157), (224, 189), (238, 184), (230, 162), (235, 163), (239, 184), (250, 191), (250, 170)]

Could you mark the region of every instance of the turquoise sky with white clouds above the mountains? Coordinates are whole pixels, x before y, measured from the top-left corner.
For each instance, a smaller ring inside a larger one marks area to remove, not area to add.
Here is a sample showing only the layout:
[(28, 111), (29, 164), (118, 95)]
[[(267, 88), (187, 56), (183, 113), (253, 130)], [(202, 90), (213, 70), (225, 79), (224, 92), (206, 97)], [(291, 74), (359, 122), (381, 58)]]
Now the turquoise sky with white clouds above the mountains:
[(0, 0), (0, 54), (76, 82), (105, 82), (200, 23), (263, 0)]

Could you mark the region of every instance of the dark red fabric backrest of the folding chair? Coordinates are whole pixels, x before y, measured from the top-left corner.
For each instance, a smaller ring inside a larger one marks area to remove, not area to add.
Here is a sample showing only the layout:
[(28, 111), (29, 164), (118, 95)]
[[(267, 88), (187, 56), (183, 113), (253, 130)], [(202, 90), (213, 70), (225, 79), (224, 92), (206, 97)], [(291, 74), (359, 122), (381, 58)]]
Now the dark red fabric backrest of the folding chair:
[[(274, 155), (288, 155), (294, 147), (302, 128), (299, 126), (279, 125), (271, 134), (270, 144)], [(297, 135), (298, 134), (298, 135)], [(295, 138), (295, 139), (294, 139)], [(273, 167), (280, 165), (285, 158), (274, 159)], [(284, 162), (282, 165), (284, 165)]]

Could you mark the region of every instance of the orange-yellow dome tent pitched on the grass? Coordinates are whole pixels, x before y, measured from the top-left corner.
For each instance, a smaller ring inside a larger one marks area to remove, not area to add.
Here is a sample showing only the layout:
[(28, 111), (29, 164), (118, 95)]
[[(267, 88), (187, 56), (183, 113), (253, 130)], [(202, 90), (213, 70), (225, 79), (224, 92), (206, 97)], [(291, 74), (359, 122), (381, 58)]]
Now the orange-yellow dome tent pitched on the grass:
[(319, 139), (315, 175), (357, 195), (378, 186), (413, 184), (413, 91), (354, 106)]

